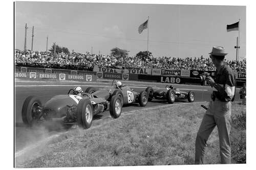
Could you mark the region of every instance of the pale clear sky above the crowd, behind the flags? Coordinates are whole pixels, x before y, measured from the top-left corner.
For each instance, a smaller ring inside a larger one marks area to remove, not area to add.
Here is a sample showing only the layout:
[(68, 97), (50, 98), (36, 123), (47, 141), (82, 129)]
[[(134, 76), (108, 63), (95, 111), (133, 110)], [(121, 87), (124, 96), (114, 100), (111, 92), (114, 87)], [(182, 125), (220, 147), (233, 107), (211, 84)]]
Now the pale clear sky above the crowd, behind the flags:
[[(138, 33), (147, 20), (148, 29)], [(223, 46), (227, 60), (236, 59), (238, 31), (226, 25), (240, 21), (239, 58), (246, 57), (246, 7), (160, 4), (104, 4), (61, 2), (15, 3), (15, 48), (46, 51), (53, 42), (71, 52), (108, 55), (119, 47), (135, 56), (147, 50), (154, 57), (208, 57), (212, 46)]]

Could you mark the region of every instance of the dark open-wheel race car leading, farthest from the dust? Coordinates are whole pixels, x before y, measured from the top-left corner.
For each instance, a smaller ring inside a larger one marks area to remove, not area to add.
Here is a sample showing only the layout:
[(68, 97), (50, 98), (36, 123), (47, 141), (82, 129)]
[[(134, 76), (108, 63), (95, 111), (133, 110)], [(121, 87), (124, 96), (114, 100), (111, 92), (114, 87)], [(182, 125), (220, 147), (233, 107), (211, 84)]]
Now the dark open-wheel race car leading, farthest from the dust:
[(193, 91), (180, 91), (174, 88), (173, 85), (166, 85), (165, 88), (159, 88), (153, 90), (152, 87), (147, 87), (145, 90), (148, 94), (148, 101), (152, 101), (153, 98), (157, 100), (167, 100), (168, 103), (173, 104), (175, 100), (188, 100), (188, 102), (194, 102), (195, 93)]

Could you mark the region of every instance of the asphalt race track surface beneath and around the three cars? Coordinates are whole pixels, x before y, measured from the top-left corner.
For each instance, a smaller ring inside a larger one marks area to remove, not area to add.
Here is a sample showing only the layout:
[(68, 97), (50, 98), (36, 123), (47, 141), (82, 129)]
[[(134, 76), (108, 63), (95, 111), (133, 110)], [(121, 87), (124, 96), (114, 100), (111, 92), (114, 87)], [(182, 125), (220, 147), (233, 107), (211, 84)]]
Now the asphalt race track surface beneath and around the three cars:
[[(123, 82), (125, 85), (129, 85), (135, 91), (145, 90), (146, 87), (150, 86), (154, 89), (165, 87), (169, 84), (164, 83), (150, 83), (150, 82)], [(83, 90), (86, 90), (88, 87), (104, 87), (111, 85), (110, 82), (53, 82), (53, 81), (20, 81), (15, 80), (15, 148), (16, 151), (24, 148), (28, 143), (28, 140), (33, 141), (37, 137), (38, 139), (44, 136), (41, 132), (37, 132), (35, 129), (29, 130), (22, 122), (22, 105), (25, 99), (30, 95), (38, 96), (41, 100), (42, 104), (52, 98), (54, 95), (58, 94), (66, 94), (69, 89), (74, 88), (75, 86), (81, 86)], [(210, 100), (211, 88), (209, 86), (198, 86), (198, 85), (174, 85), (176, 88), (182, 91), (193, 90), (195, 92), (195, 102), (204, 102)], [(236, 90), (236, 100), (239, 100), (238, 90)], [(175, 103), (186, 103), (185, 101), (176, 101)], [(143, 108), (150, 108), (162, 105), (170, 105), (167, 102), (153, 100), (152, 102), (148, 102), (147, 106), (140, 107), (138, 104), (131, 104), (128, 106), (124, 106), (122, 109), (122, 113), (134, 111)], [(94, 121), (103, 121), (104, 118), (110, 117), (109, 111), (105, 111), (94, 117)], [(92, 124), (93, 126), (93, 124)], [(48, 132), (47, 132), (48, 133)], [(56, 134), (57, 132), (49, 132), (52, 134)], [(33, 140), (31, 139), (31, 135), (34, 135)], [(30, 137), (28, 137), (30, 136)], [(39, 137), (41, 136), (41, 137)]]

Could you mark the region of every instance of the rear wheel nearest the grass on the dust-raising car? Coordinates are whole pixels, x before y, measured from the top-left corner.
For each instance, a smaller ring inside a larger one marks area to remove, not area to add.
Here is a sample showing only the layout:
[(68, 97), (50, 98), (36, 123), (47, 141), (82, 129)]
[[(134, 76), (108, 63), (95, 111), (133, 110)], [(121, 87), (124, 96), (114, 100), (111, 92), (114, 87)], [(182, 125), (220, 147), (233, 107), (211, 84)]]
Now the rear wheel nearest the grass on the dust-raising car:
[(93, 105), (90, 99), (83, 98), (77, 105), (77, 124), (79, 127), (88, 129), (93, 122)]

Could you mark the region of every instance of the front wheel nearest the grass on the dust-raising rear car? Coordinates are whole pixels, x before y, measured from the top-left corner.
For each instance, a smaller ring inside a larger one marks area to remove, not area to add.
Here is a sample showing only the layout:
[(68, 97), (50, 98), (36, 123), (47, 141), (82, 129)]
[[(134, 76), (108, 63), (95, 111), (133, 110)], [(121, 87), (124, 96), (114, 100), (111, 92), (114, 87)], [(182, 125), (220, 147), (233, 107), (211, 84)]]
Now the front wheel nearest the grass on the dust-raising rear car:
[(122, 112), (122, 102), (118, 95), (112, 96), (110, 100), (110, 115), (113, 118), (118, 118)]

